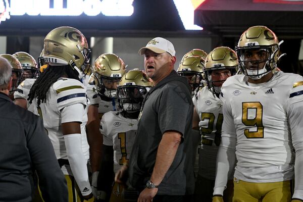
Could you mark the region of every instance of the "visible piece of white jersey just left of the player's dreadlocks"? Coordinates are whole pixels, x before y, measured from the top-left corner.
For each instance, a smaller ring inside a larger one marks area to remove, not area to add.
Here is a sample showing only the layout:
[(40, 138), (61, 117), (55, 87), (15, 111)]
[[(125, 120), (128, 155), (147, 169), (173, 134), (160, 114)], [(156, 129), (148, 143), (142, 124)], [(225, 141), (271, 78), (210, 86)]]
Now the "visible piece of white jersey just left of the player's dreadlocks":
[(29, 91), (35, 81), (36, 79), (25, 79), (24, 81), (22, 81), (19, 84), (17, 90), (14, 92), (14, 99), (18, 99), (18, 98), (25, 99), (27, 102), (27, 110), (31, 111), (35, 115), (38, 115), (37, 109), (34, 108), (33, 105), (30, 105), (29, 101), (27, 100)]

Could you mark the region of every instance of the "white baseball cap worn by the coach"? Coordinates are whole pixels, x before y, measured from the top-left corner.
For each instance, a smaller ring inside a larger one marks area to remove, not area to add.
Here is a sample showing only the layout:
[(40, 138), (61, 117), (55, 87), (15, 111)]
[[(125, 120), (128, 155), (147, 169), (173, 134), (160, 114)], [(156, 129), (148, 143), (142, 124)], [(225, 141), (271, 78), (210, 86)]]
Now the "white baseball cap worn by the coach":
[(172, 56), (175, 56), (176, 51), (174, 48), (174, 45), (172, 42), (169, 40), (166, 40), (165, 38), (162, 37), (156, 37), (151, 39), (145, 47), (141, 47), (139, 49), (138, 54), (139, 55), (144, 55), (146, 49), (149, 49), (150, 51), (153, 51), (157, 54), (163, 54), (165, 52), (169, 53)]

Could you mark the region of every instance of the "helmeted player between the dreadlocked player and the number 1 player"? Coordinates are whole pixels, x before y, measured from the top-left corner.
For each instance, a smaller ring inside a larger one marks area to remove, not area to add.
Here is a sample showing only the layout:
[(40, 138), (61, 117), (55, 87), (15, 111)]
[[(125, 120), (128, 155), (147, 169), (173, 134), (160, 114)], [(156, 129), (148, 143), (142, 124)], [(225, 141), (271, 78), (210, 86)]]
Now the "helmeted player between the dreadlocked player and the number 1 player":
[[(102, 116), (106, 112), (117, 110), (117, 86), (121, 77), (125, 74), (125, 65), (122, 59), (115, 54), (102, 54), (95, 60), (92, 69), (93, 73), (90, 75), (87, 85), (87, 95), (90, 100), (87, 126), (89, 133), (99, 132)], [(91, 141), (89, 139), (89, 143), (96, 142), (95, 139), (100, 137), (102, 138), (102, 135), (95, 136)], [(98, 161), (98, 158), (94, 159), (95, 162)], [(99, 164), (91, 166), (92, 188), (93, 194), (96, 196)]]

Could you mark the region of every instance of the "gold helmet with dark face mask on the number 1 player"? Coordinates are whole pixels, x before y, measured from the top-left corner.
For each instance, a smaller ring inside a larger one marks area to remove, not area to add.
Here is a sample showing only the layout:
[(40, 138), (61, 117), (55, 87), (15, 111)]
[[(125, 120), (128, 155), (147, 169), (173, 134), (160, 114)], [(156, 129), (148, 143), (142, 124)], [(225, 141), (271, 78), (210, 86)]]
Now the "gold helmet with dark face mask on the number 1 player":
[(124, 112), (137, 112), (141, 109), (143, 98), (153, 83), (141, 70), (131, 70), (124, 74), (118, 87), (118, 100)]

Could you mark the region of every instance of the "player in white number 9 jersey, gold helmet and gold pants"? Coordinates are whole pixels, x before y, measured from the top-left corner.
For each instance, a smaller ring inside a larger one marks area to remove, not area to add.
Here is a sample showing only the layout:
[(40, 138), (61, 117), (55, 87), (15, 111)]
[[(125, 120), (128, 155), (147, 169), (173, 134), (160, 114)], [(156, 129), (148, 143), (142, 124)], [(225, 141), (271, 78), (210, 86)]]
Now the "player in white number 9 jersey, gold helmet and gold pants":
[(239, 39), (243, 74), (222, 86), (224, 120), (213, 201), (222, 201), (235, 159), (233, 201), (303, 200), (302, 131), (293, 125), (302, 119), (297, 106), (302, 106), (303, 78), (275, 70), (280, 44), (265, 26), (250, 27)]

